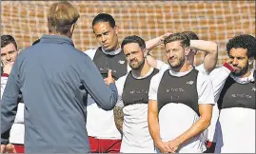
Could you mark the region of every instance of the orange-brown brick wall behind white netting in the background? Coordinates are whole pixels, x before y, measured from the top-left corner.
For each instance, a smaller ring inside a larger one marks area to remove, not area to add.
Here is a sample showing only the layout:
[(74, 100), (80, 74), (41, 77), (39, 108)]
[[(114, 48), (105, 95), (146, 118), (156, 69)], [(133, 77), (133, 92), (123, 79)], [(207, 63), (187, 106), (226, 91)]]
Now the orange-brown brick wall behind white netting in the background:
[[(2, 1), (1, 34), (13, 35), (19, 48), (28, 48), (47, 33), (47, 10), (54, 1)], [(99, 12), (108, 12), (119, 26), (119, 42), (136, 34), (148, 40), (165, 32), (192, 30), (201, 39), (219, 45), (219, 62), (226, 59), (226, 42), (236, 34), (255, 36), (254, 1), (71, 1), (81, 17), (73, 40), (76, 48), (98, 46), (91, 21)], [(152, 54), (166, 61), (163, 47)], [(202, 61), (199, 53), (196, 63)]]

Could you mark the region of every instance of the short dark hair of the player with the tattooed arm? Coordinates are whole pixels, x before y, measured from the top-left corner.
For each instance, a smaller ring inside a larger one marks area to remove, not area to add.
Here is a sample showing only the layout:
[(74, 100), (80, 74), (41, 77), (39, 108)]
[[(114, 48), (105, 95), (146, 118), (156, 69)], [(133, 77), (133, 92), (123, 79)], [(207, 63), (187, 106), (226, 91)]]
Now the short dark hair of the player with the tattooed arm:
[(121, 48), (124, 49), (124, 46), (125, 45), (128, 45), (130, 43), (136, 43), (139, 45), (139, 47), (144, 50), (146, 48), (146, 44), (145, 44), (145, 41), (144, 39), (142, 39), (141, 37), (139, 36), (136, 36), (136, 35), (132, 35), (132, 36), (128, 36), (126, 37), (122, 44), (121, 44)]

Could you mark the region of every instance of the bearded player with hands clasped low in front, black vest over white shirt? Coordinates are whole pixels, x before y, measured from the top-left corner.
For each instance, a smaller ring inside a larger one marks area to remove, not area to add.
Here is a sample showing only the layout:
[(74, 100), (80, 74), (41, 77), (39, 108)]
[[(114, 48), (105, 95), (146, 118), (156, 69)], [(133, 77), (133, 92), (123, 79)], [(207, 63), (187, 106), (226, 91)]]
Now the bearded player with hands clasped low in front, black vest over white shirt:
[(204, 130), (210, 124), (213, 90), (206, 73), (187, 63), (189, 39), (183, 33), (165, 41), (169, 68), (152, 77), (148, 93), (148, 126), (161, 152), (206, 150)]

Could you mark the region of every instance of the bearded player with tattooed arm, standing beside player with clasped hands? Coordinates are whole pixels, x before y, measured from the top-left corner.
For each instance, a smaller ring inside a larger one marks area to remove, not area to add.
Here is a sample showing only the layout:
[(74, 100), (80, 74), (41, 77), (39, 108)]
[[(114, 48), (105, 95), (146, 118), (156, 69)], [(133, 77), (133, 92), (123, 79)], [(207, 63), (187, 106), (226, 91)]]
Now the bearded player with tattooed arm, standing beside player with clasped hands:
[(119, 99), (114, 107), (114, 118), (123, 133), (120, 152), (155, 153), (148, 131), (148, 90), (150, 79), (159, 70), (148, 65), (148, 48), (141, 37), (126, 37), (121, 48), (131, 70), (116, 81)]

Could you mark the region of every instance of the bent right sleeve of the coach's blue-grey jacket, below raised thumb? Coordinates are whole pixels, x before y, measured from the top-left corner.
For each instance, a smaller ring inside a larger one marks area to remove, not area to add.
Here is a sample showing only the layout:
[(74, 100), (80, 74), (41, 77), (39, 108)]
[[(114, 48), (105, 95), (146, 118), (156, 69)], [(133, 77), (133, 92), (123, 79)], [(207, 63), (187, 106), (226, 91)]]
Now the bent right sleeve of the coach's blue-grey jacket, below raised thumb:
[(86, 67), (83, 67), (82, 83), (95, 103), (105, 110), (111, 110), (118, 99), (118, 92), (115, 84), (105, 84), (98, 68), (85, 56)]

